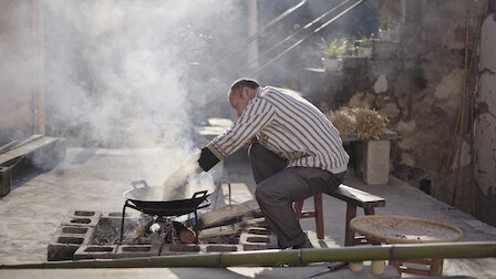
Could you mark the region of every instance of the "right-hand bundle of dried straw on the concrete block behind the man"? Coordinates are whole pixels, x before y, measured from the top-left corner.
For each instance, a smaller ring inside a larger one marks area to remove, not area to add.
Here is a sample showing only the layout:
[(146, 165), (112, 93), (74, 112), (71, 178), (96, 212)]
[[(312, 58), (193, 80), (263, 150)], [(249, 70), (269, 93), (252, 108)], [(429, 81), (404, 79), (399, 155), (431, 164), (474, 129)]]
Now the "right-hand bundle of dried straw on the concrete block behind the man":
[(388, 120), (376, 111), (369, 108), (353, 108), (356, 136), (362, 140), (379, 140)]

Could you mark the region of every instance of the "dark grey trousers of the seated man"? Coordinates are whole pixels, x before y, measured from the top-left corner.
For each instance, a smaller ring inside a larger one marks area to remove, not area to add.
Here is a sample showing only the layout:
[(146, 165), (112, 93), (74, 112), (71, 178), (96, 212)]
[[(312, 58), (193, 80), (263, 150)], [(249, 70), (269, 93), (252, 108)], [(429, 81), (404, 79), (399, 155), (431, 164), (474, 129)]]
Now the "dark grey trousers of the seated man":
[(281, 249), (303, 242), (304, 235), (292, 204), (319, 193), (329, 193), (341, 184), (344, 174), (334, 175), (314, 167), (286, 167), (286, 159), (260, 144), (248, 151), (257, 188), (255, 196)]

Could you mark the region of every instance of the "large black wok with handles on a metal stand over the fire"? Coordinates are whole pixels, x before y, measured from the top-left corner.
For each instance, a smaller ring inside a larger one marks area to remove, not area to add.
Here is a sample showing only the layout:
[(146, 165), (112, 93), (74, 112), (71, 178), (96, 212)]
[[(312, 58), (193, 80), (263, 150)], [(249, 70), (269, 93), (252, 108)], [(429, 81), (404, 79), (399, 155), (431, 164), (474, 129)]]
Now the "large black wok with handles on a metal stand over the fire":
[[(122, 209), (121, 242), (124, 236), (124, 217), (126, 215), (126, 207), (158, 217), (180, 216), (195, 213), (195, 232), (197, 232), (197, 210), (210, 205), (210, 200), (208, 200), (208, 196), (210, 194), (207, 194), (207, 190), (196, 192), (189, 199), (158, 200), (157, 197), (162, 197), (164, 190), (163, 187), (148, 186), (145, 180), (137, 180), (131, 184), (134, 189), (126, 190), (123, 194), (126, 198), (126, 203)], [(137, 187), (138, 185), (143, 185), (143, 187), (140, 188)], [(196, 234), (196, 241), (198, 241), (198, 234)]]

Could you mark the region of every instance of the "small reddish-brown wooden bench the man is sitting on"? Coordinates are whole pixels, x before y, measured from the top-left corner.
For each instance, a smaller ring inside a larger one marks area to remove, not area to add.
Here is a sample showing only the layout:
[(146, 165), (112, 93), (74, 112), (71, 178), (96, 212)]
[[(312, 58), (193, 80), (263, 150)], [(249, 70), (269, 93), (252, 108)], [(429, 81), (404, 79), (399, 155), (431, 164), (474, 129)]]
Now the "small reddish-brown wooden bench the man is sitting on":
[[(384, 207), (385, 200), (382, 197), (374, 196), (363, 190), (352, 188), (341, 184), (334, 192), (329, 195), (339, 198), (347, 203), (347, 223), (344, 230), (344, 246), (355, 246), (363, 244), (371, 244), (370, 240), (362, 236), (355, 236), (354, 231), (350, 229), (350, 220), (356, 217), (356, 207), (363, 208), (365, 215), (374, 215), (375, 207)], [(323, 213), (322, 213), (322, 194), (313, 196), (314, 209), (312, 211), (302, 211), (303, 200), (294, 203), (294, 211), (297, 218), (316, 218), (317, 238), (323, 239)]]

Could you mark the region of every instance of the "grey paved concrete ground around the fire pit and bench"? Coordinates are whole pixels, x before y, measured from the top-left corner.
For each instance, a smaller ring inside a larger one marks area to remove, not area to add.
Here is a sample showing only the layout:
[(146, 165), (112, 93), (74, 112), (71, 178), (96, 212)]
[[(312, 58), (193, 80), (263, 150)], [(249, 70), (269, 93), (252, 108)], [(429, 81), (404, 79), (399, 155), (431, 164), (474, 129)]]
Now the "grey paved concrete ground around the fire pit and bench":
[[(157, 185), (173, 165), (164, 165), (164, 154), (156, 149), (83, 149), (69, 148), (66, 158), (46, 173), (24, 172), (14, 180), (12, 192), (0, 199), (0, 265), (41, 262), (46, 259), (46, 246), (68, 210), (89, 209), (120, 211), (124, 204), (122, 193), (130, 183), (145, 178)], [(169, 154), (170, 157), (170, 154)], [(226, 162), (225, 175), (231, 180), (232, 203), (252, 198), (255, 184), (247, 164)], [(404, 215), (451, 224), (464, 232), (463, 241), (496, 240), (496, 228), (480, 223), (423, 192), (391, 177), (389, 185), (368, 186), (360, 178), (348, 177), (345, 184), (382, 196), (386, 207), (376, 214)], [(223, 186), (220, 203), (227, 203), (227, 185)], [(214, 199), (214, 197), (211, 197)], [(311, 203), (306, 203), (310, 206)], [(324, 195), (326, 239), (318, 240), (314, 223), (303, 219), (302, 227), (316, 247), (343, 246), (345, 204)], [(301, 278), (319, 269), (304, 268), (229, 268), (229, 269), (121, 269), (121, 270), (1, 270), (0, 278), (136, 278), (163, 276), (189, 278), (202, 272), (211, 278)], [(368, 271), (365, 267), (365, 271)], [(189, 270), (189, 271), (188, 271)], [(376, 278), (370, 272), (349, 270), (328, 273), (332, 278)], [(496, 259), (448, 259), (444, 276), (495, 278)], [(204, 277), (204, 276), (202, 276)], [(382, 278), (397, 277), (386, 269)], [(322, 277), (324, 278), (324, 277)]]

